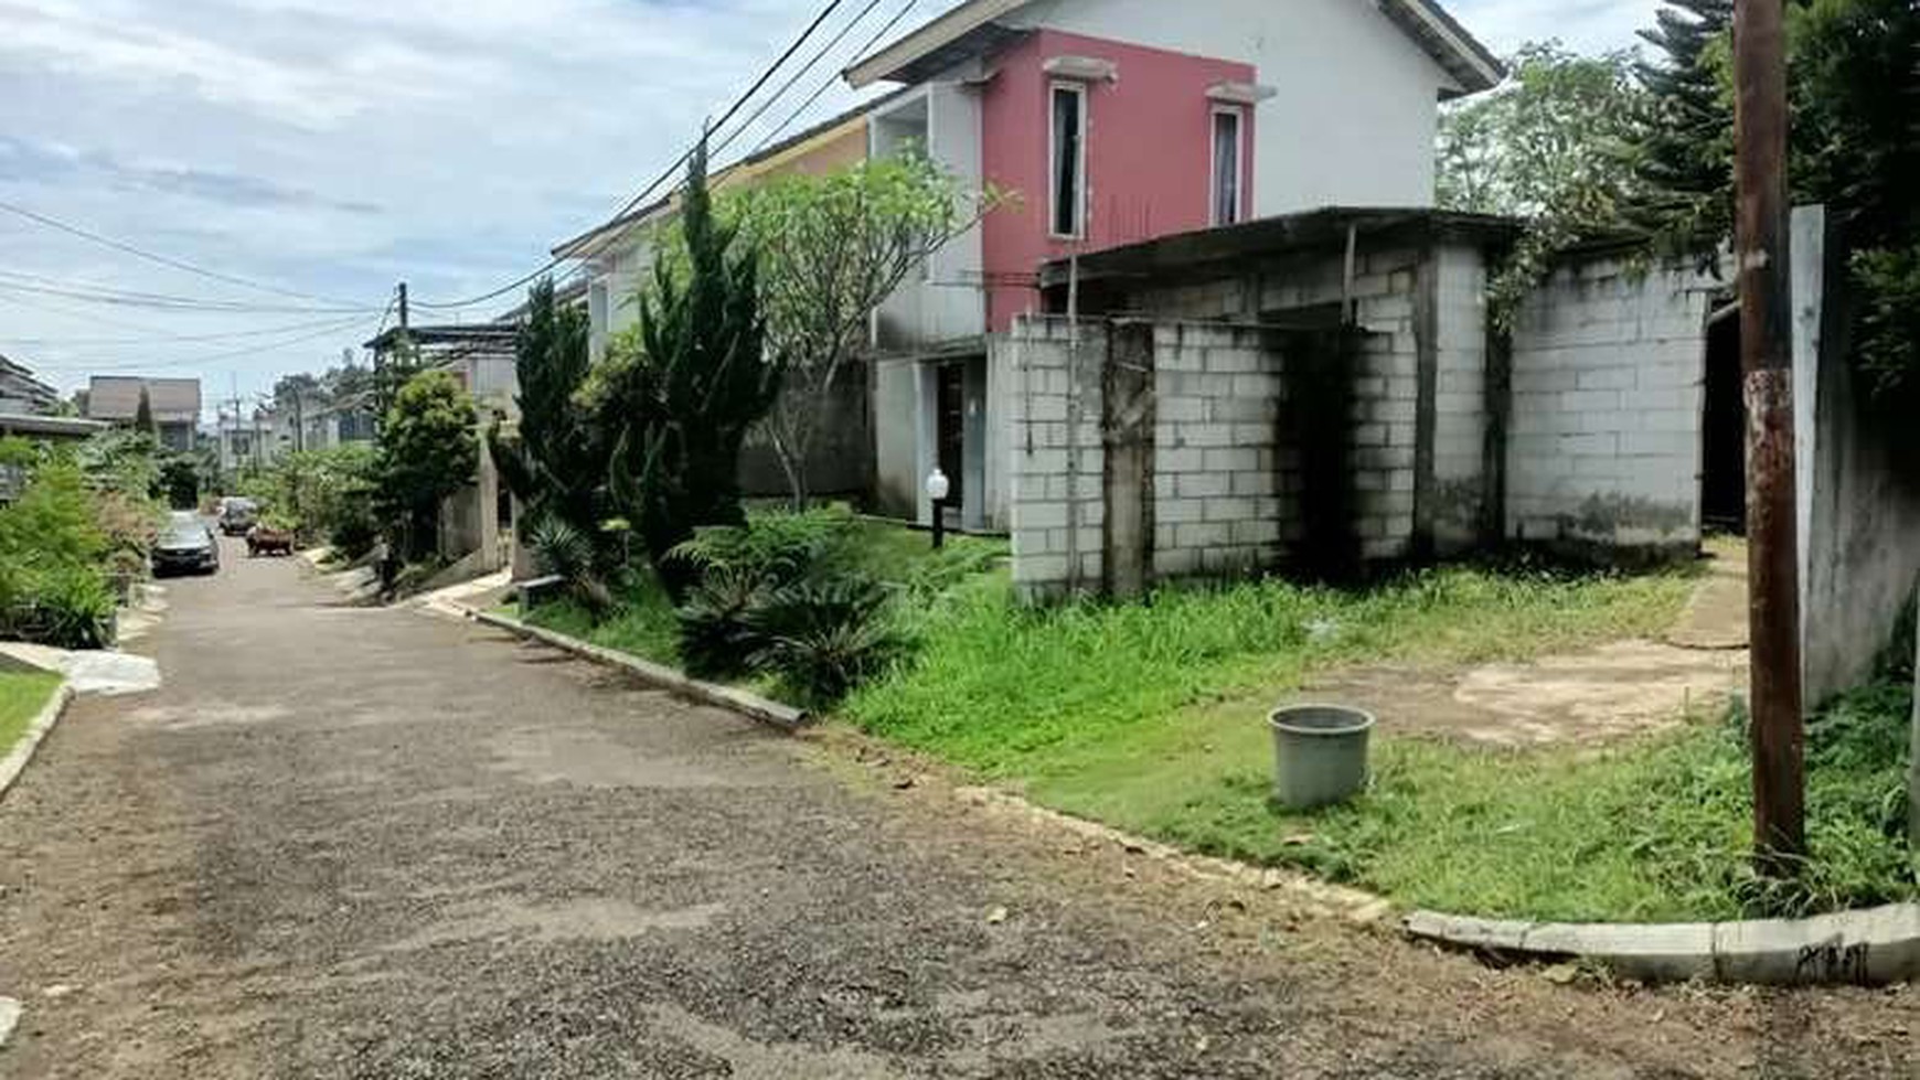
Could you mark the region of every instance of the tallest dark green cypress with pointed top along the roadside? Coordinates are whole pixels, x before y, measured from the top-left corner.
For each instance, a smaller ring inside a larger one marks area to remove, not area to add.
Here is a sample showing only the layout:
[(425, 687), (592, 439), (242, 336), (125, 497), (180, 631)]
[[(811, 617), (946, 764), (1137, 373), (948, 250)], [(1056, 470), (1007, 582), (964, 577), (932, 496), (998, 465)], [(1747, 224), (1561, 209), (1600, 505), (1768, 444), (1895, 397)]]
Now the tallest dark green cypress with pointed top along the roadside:
[(766, 349), (758, 255), (712, 213), (705, 144), (687, 165), (680, 228), (685, 274), (655, 261), (639, 334), (611, 363), (601, 399), (612, 501), (676, 599), (691, 574), (666, 552), (701, 526), (745, 520), (739, 451), (781, 378), (780, 357)]

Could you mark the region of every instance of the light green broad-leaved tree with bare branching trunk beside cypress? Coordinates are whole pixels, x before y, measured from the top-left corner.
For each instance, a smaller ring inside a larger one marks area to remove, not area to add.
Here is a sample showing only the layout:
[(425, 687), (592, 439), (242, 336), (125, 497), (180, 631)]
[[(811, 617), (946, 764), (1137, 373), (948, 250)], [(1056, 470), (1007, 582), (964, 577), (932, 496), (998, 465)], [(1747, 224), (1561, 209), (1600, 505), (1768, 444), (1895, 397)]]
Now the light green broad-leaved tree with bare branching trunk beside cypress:
[(874, 311), (996, 196), (972, 201), (950, 171), (918, 152), (741, 196), (739, 226), (760, 253), (766, 347), (785, 372), (764, 430), (795, 508), (808, 503), (814, 435), (841, 376), (866, 351)]

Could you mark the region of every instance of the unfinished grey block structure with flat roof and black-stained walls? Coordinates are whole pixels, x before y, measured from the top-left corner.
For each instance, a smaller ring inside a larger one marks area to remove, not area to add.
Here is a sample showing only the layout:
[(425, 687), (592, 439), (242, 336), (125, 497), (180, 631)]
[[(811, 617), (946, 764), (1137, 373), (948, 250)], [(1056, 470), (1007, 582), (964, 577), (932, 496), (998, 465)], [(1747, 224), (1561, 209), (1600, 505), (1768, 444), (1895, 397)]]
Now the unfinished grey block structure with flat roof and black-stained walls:
[[(1048, 307), (1075, 315), (995, 345), (1016, 575), (1046, 593), (1503, 539), (1693, 551), (1722, 286), (1596, 247), (1501, 328), (1488, 267), (1513, 236), (1503, 219), (1327, 209), (1052, 263)], [(1137, 518), (1110, 516), (1117, 487), (1150, 491)]]

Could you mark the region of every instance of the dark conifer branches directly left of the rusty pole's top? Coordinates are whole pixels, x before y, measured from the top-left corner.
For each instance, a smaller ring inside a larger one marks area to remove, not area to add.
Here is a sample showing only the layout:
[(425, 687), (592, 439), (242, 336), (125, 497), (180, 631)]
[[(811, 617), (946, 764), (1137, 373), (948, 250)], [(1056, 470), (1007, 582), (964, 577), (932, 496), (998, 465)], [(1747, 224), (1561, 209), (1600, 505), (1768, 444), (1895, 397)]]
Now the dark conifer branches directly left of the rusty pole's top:
[(1734, 102), (1726, 71), (1734, 0), (1667, 0), (1657, 27), (1640, 31), (1659, 50), (1636, 63), (1649, 125), (1636, 173), (1645, 186), (1630, 217), (1674, 253), (1713, 261), (1734, 234)]

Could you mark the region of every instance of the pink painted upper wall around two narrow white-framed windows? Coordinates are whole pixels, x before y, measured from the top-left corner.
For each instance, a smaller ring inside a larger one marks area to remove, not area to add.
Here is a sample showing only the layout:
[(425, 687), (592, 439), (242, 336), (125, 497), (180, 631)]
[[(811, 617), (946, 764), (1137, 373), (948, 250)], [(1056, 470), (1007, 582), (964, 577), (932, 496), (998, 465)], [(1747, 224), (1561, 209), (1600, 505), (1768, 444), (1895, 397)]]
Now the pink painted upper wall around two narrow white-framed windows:
[[(1048, 236), (1050, 88), (1044, 63), (1056, 56), (1110, 59), (1116, 82), (1087, 82), (1087, 236)], [(1060, 31), (1039, 31), (995, 58), (981, 90), (981, 167), (989, 182), (1020, 201), (987, 217), (987, 328), (1006, 330), (1039, 307), (1039, 293), (1010, 284), (1073, 249), (1098, 251), (1212, 224), (1215, 82), (1254, 82), (1248, 63), (1208, 59)], [(1254, 190), (1254, 109), (1242, 107), (1240, 211)]]

